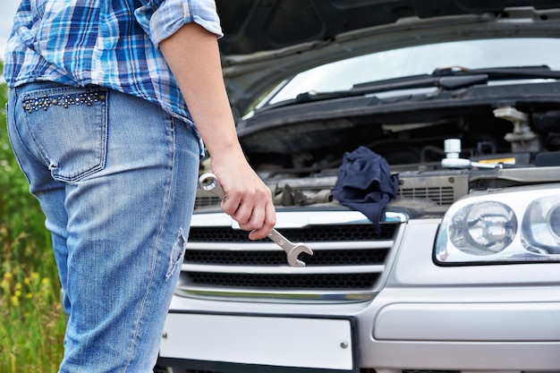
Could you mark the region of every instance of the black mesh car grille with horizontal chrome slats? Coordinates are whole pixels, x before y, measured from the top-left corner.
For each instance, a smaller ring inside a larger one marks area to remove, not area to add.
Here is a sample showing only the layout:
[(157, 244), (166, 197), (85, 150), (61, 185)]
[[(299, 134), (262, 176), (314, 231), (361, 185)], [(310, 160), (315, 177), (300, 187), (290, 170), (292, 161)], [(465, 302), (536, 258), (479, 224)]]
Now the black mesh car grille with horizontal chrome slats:
[[(329, 212), (329, 214), (336, 214)], [(286, 254), (269, 240), (250, 241), (231, 226), (192, 226), (177, 293), (190, 297), (256, 298), (273, 301), (371, 299), (400, 224), (312, 225), (279, 229), (305, 242), (306, 267), (289, 267)]]

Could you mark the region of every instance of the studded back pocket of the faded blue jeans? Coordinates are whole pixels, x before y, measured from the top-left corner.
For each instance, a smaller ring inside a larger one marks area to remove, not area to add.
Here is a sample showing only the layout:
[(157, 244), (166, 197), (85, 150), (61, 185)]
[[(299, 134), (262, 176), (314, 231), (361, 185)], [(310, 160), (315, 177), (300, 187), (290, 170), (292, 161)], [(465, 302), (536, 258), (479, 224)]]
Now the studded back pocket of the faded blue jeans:
[(33, 146), (55, 180), (77, 182), (106, 162), (108, 91), (55, 87), (19, 99)]

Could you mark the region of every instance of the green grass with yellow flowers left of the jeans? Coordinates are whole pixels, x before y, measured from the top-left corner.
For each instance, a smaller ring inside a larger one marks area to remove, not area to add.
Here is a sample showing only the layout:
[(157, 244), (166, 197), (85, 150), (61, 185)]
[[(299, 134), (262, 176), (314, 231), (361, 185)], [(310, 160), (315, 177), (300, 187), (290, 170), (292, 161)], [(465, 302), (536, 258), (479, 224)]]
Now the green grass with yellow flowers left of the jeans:
[(56, 372), (64, 351), (60, 284), (45, 217), (10, 148), (6, 97), (0, 84), (0, 373)]

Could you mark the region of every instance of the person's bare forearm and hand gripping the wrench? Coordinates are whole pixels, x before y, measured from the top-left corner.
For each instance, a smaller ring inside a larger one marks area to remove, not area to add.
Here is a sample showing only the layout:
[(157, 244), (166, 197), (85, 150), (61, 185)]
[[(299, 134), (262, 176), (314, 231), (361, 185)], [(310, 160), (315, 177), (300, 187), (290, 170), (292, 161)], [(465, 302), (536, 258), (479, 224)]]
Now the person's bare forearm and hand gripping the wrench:
[(224, 188), (227, 199), (222, 209), (242, 229), (251, 231), (251, 239), (266, 237), (276, 224), (276, 210), (271, 191), (250, 168), (237, 139), (216, 35), (188, 23), (159, 47)]

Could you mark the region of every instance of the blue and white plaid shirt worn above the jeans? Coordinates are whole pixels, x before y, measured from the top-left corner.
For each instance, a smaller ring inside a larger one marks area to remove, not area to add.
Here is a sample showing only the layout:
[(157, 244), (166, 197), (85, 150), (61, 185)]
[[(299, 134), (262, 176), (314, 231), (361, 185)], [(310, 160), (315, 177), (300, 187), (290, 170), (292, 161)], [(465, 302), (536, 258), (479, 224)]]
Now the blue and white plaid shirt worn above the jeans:
[(56, 81), (116, 89), (192, 124), (158, 49), (192, 21), (222, 36), (214, 0), (22, 0), (4, 55), (4, 77), (9, 87)]

